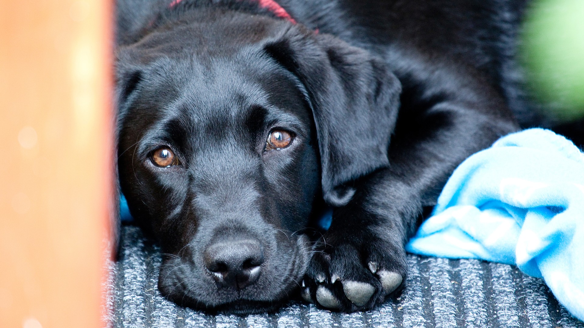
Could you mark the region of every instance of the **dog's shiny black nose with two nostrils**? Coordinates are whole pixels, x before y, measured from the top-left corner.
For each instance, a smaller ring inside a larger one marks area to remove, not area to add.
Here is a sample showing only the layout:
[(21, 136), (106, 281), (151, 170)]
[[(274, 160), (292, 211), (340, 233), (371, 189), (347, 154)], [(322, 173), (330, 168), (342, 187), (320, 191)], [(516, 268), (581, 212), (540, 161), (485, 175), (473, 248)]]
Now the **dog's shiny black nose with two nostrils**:
[(256, 239), (222, 240), (207, 247), (204, 261), (218, 285), (242, 289), (258, 281), (263, 247)]

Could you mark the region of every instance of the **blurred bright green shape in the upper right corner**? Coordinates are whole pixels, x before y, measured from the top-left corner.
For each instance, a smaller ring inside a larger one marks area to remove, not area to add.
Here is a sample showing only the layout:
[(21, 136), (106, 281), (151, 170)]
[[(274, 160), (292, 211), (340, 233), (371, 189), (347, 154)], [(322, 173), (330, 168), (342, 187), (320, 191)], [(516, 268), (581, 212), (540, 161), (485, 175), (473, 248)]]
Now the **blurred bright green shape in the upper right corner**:
[(531, 96), (557, 123), (584, 118), (584, 0), (534, 0), (520, 44)]

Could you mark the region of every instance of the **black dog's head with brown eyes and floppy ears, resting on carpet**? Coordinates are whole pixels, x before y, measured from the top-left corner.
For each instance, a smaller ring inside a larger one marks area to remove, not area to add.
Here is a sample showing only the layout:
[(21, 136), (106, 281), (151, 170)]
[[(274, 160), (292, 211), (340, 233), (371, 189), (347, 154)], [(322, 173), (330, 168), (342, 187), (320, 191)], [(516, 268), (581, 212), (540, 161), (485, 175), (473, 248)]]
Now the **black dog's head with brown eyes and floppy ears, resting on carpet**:
[(120, 183), (161, 244), (162, 294), (235, 313), (285, 301), (316, 204), (388, 165), (399, 90), (365, 51), (247, 13), (193, 11), (121, 47)]

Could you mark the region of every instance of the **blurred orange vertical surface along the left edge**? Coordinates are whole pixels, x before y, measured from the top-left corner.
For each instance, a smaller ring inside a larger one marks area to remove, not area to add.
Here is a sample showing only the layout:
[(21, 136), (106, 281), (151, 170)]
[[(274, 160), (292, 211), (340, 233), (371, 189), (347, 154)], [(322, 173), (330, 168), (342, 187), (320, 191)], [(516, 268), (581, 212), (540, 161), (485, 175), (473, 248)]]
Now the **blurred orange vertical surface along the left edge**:
[(106, 326), (112, 4), (0, 1), (0, 327)]

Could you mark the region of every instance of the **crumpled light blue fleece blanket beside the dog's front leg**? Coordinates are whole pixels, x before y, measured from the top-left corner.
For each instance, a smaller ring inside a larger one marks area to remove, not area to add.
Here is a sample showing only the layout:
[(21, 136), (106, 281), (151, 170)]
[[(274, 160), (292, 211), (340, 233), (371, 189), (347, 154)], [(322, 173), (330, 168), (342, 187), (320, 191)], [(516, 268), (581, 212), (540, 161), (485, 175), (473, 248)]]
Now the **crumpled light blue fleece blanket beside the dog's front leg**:
[(499, 139), (458, 166), (406, 249), (516, 264), (584, 320), (584, 155), (543, 129)]

